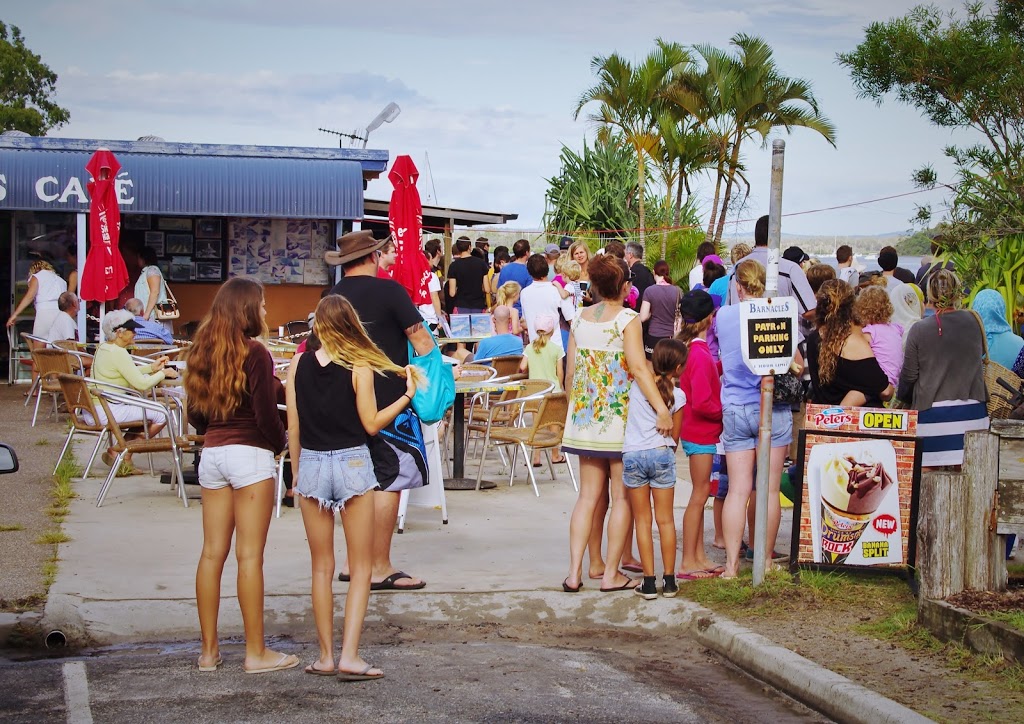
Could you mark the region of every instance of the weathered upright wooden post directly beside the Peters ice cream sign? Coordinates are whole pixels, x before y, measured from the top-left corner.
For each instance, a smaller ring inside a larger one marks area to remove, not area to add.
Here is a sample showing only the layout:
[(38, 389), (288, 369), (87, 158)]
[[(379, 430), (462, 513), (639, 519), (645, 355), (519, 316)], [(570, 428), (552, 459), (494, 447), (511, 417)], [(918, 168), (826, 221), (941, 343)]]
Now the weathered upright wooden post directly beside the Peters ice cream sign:
[(964, 590), (965, 481), (958, 473), (921, 476), (918, 572), (922, 598), (947, 598)]

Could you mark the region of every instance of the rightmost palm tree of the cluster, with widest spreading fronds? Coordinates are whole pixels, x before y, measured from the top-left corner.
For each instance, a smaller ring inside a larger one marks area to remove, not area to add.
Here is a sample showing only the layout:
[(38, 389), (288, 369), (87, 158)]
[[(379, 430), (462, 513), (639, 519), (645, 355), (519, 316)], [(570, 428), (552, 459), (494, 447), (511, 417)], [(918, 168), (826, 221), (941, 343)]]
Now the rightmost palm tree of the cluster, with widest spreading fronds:
[(721, 139), (707, 235), (716, 244), (725, 229), (744, 140), (760, 137), (764, 145), (776, 128), (790, 132), (803, 127), (836, 145), (836, 127), (818, 109), (808, 81), (782, 75), (771, 46), (761, 38), (740, 33), (730, 44), (736, 49), (734, 55), (708, 45), (694, 46), (703, 70), (679, 78), (668, 93)]

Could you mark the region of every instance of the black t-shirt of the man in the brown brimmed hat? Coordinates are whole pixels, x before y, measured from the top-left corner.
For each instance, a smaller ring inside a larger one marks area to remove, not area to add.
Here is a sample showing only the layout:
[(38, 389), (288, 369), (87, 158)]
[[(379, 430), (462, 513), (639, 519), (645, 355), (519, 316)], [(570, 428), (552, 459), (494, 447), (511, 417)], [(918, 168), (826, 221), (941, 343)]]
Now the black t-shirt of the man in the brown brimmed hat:
[[(378, 347), (395, 365), (409, 365), (409, 337), (406, 330), (422, 324), (423, 317), (413, 305), (409, 293), (397, 282), (376, 276), (345, 276), (334, 286), (332, 294), (345, 297), (359, 315)], [(388, 373), (374, 375), (378, 409), (386, 408), (406, 393), (406, 381)]]

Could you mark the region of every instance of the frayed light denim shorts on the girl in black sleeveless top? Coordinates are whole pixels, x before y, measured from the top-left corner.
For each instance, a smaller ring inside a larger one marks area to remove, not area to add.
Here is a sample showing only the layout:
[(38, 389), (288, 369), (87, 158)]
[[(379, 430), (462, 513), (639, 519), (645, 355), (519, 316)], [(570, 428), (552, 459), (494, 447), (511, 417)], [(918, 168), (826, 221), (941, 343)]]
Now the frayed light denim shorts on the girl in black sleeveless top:
[(366, 445), (344, 450), (306, 450), (299, 455), (295, 492), (321, 508), (341, 510), (349, 499), (377, 487), (374, 464)]

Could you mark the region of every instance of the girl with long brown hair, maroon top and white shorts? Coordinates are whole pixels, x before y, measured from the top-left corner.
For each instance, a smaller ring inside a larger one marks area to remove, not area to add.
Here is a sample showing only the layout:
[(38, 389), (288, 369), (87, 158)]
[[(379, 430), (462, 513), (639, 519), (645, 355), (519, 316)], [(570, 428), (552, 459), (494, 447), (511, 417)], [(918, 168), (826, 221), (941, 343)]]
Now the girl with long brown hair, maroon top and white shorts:
[(263, 285), (238, 276), (217, 291), (186, 353), (189, 418), (197, 428), (206, 428), (199, 465), (203, 554), (196, 571), (203, 672), (216, 671), (221, 664), (220, 579), (236, 534), (238, 597), (246, 632), (244, 669), (262, 674), (299, 663), (294, 655), (266, 648), (263, 637), (263, 549), (273, 510), (273, 458), (287, 441), (278, 413), (281, 383), (261, 342), (266, 336)]

